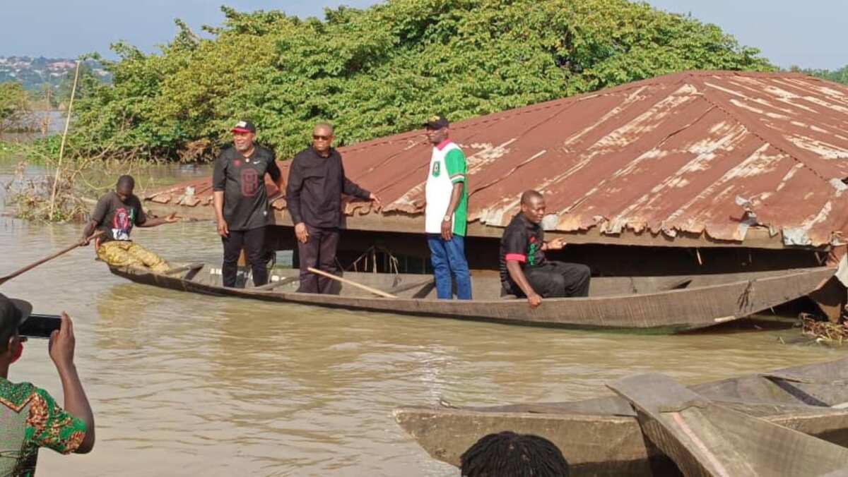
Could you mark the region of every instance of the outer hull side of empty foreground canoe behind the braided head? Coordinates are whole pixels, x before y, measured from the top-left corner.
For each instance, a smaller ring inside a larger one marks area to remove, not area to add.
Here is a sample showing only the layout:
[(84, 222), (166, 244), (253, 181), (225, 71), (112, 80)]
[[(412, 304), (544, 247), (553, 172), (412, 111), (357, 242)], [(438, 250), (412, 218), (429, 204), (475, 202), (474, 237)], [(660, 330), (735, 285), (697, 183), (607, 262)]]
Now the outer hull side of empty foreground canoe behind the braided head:
[[(573, 475), (674, 475), (677, 467), (644, 439), (635, 417), (580, 414), (486, 413), (460, 409), (399, 408), (395, 420), (430, 457), (455, 466), (483, 435), (502, 430), (553, 442)], [(783, 414), (769, 422), (848, 446), (848, 412)]]

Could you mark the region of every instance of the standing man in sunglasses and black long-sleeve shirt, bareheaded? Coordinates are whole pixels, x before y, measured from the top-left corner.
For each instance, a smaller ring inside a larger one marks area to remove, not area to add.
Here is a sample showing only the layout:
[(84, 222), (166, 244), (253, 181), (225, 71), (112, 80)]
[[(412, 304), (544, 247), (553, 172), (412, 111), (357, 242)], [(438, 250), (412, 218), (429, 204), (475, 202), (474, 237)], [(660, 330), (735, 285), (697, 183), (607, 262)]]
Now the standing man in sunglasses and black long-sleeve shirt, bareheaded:
[(307, 268), (336, 271), (338, 227), (342, 225), (342, 193), (377, 202), (370, 191), (344, 175), (342, 155), (332, 147), (332, 125), (321, 123), (312, 131), (312, 147), (298, 153), (288, 172), (286, 202), (298, 237), (300, 287), (304, 293), (329, 293), (332, 281)]

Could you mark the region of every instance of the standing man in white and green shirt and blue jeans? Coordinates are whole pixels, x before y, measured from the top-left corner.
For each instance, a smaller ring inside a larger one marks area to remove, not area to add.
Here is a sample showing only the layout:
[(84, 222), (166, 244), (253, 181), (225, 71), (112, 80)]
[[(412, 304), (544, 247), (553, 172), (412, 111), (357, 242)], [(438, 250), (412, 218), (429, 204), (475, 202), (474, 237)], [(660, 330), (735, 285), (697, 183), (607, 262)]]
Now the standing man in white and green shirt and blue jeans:
[(436, 276), (438, 298), (453, 297), (451, 275), (456, 280), (456, 297), (471, 300), (471, 274), (465, 253), (468, 222), (466, 156), (450, 141), (449, 123), (433, 116), (424, 125), (432, 142), (432, 158), (427, 169), (427, 208), (425, 228), (430, 259)]

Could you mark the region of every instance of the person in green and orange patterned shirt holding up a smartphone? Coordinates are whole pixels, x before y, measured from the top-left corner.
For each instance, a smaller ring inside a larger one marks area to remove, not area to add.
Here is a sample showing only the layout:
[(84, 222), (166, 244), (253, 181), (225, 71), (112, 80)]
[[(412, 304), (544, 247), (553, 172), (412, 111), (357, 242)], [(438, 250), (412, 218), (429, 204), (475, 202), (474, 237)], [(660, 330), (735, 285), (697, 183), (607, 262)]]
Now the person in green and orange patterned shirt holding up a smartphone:
[(47, 350), (59, 372), (64, 409), (47, 391), (27, 382), (8, 380), (9, 366), (23, 352), (20, 324), (32, 306), (0, 294), (0, 474), (35, 474), (38, 449), (84, 454), (94, 447), (94, 414), (74, 366), (74, 328), (62, 313), (62, 324), (50, 336)]

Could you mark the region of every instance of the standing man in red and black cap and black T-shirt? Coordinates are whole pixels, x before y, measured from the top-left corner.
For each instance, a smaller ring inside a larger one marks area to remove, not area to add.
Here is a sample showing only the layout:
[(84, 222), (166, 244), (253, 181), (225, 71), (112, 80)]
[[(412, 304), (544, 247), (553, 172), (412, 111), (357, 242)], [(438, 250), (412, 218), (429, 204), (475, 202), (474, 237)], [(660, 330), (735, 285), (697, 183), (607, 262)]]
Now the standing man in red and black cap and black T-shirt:
[(224, 286), (236, 286), (238, 254), (244, 247), (253, 269), (254, 286), (268, 281), (265, 258), (265, 226), (271, 223), (265, 174), (282, 191), (282, 174), (274, 152), (254, 143), (256, 127), (239, 121), (232, 128), (234, 147), (215, 159), (212, 190), (218, 235), (224, 244), (221, 278)]

